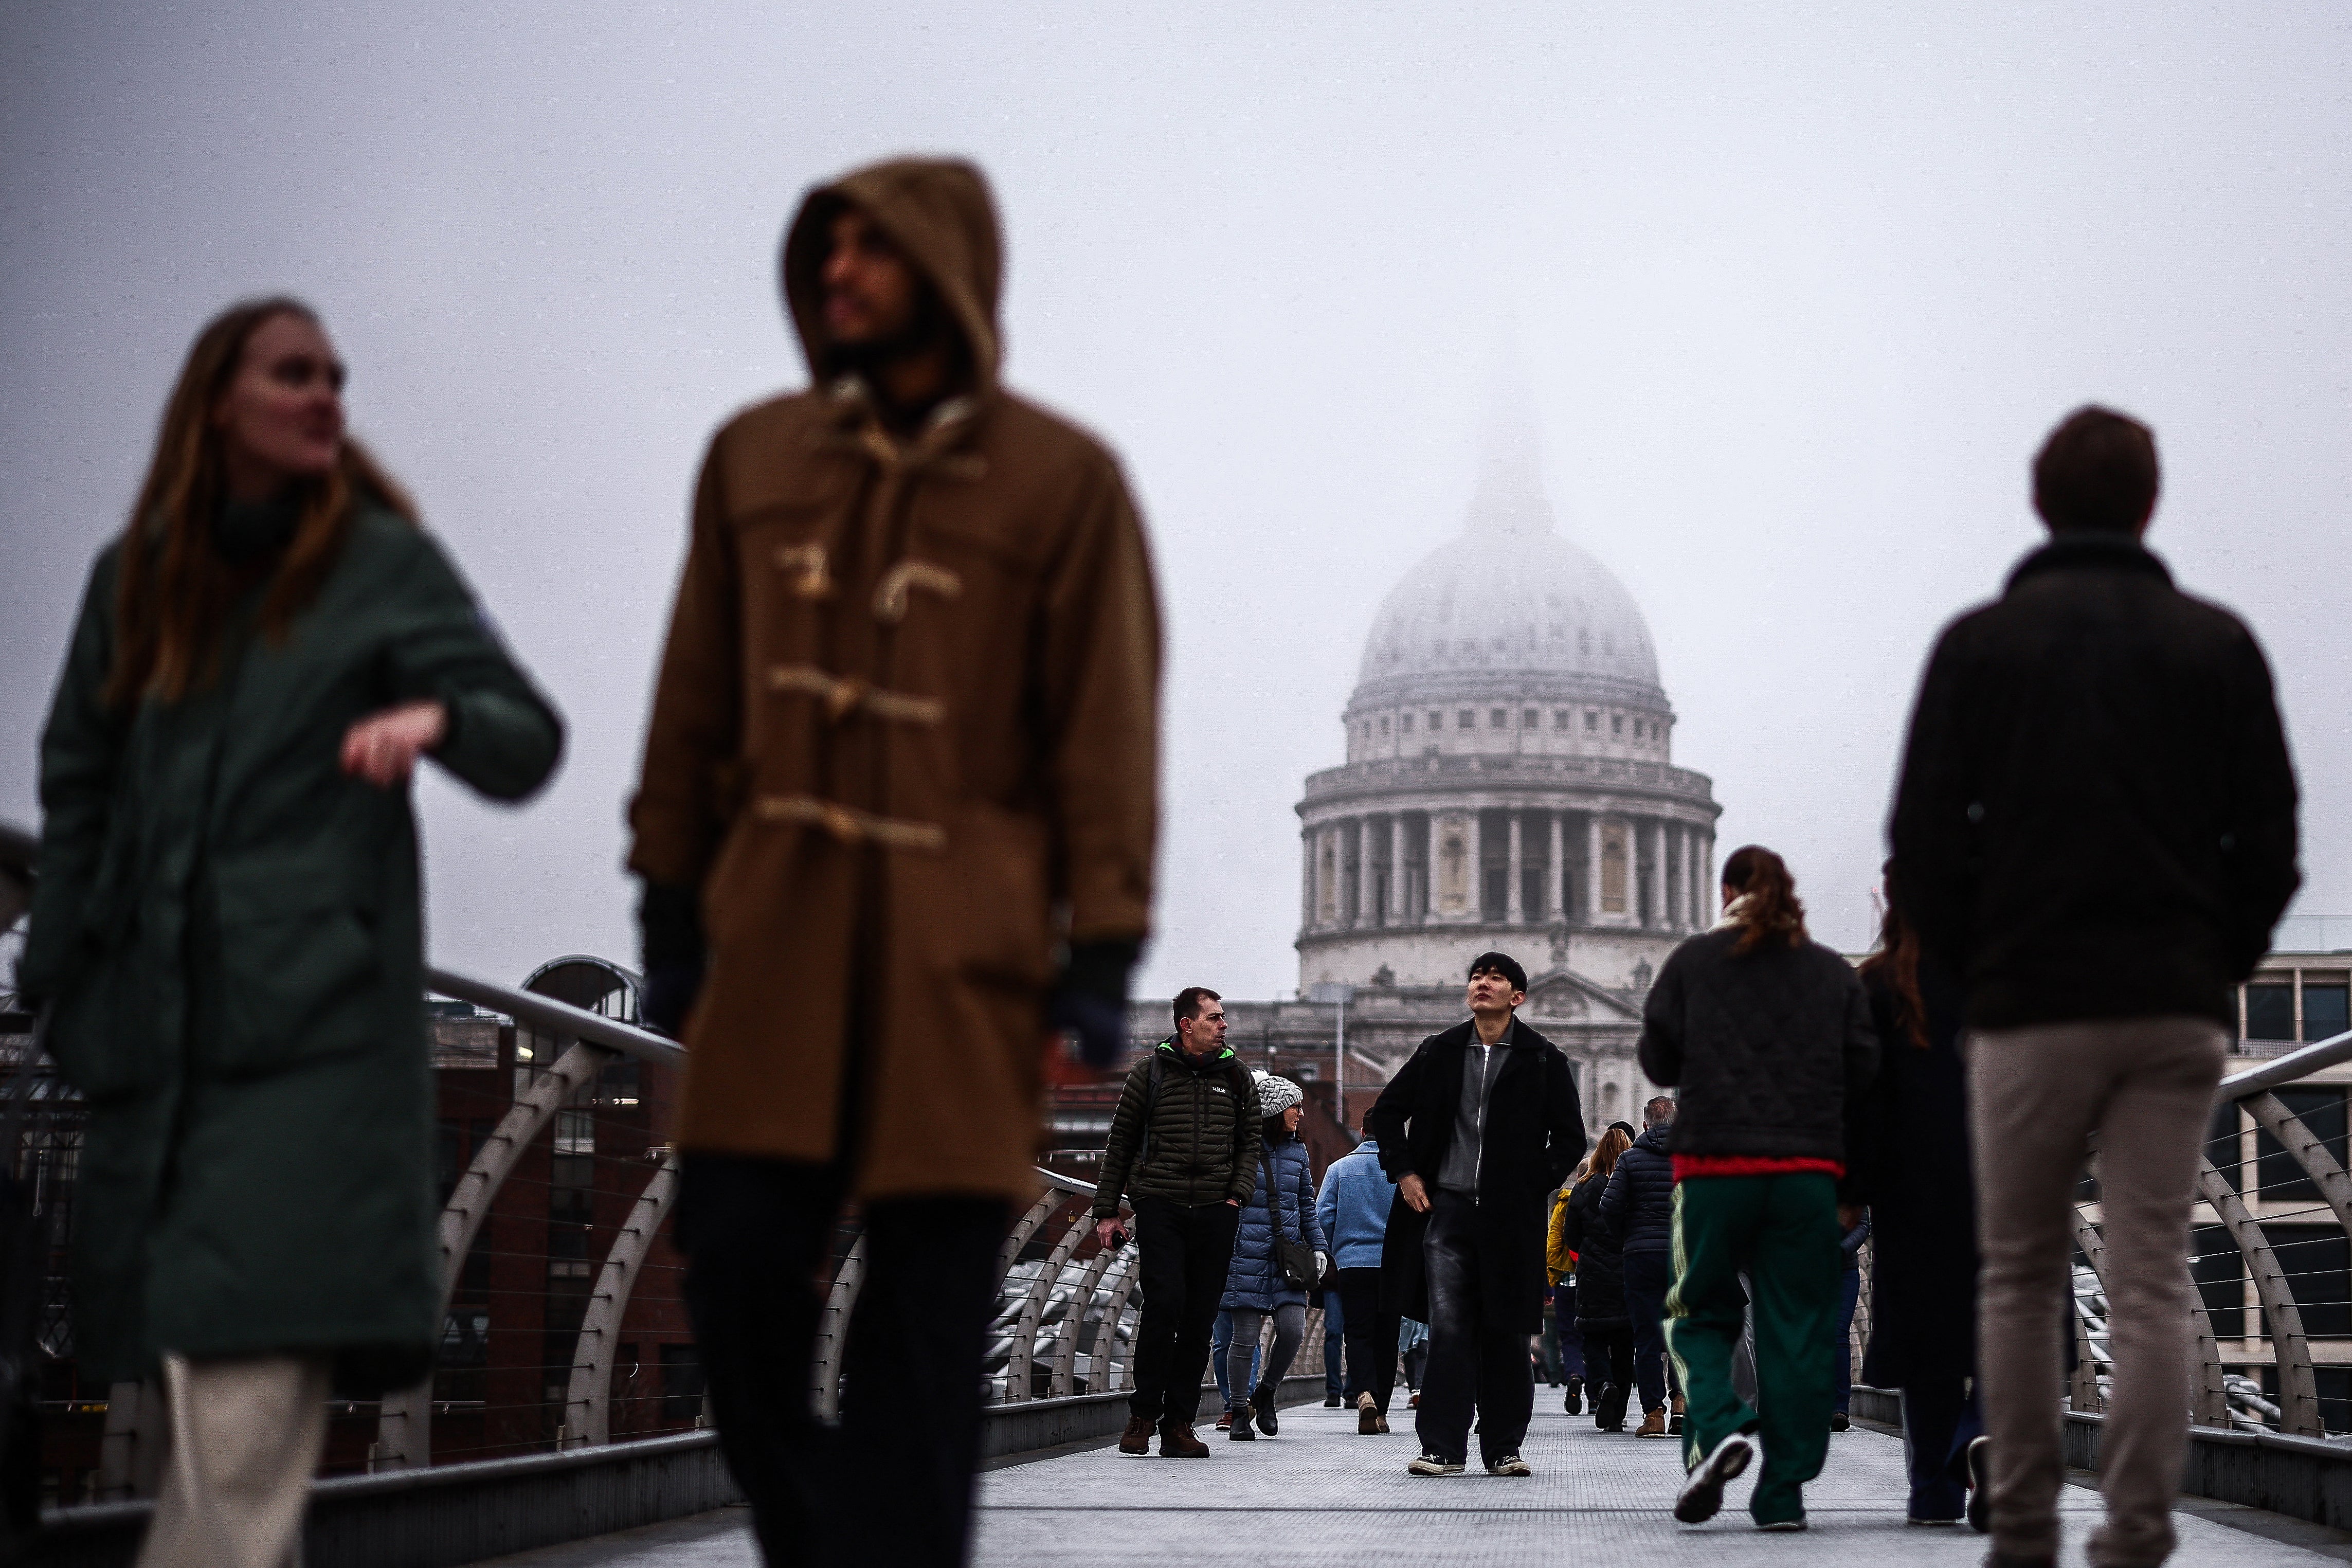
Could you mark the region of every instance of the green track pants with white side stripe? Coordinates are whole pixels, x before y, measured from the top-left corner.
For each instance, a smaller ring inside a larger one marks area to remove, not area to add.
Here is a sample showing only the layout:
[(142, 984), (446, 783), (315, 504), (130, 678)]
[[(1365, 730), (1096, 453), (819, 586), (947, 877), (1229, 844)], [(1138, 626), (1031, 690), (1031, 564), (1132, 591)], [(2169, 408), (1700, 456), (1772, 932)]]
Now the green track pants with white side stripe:
[[(1795, 1175), (1693, 1175), (1675, 1185), (1675, 1286), (1665, 1347), (1682, 1373), (1684, 1465), (1733, 1432), (1764, 1446), (1748, 1512), (1804, 1516), (1804, 1483), (1830, 1453), (1837, 1401), (1837, 1182)], [(1748, 1288), (1740, 1286), (1748, 1274)], [(1731, 1349), (1755, 1291), (1757, 1406), (1731, 1392)]]

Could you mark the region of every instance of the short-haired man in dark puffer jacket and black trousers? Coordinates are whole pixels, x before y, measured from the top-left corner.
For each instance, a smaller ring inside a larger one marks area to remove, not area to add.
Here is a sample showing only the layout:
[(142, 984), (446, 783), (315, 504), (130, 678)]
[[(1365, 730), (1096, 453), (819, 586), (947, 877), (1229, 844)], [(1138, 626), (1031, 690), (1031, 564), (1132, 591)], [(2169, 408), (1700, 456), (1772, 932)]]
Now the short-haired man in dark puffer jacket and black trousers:
[(1176, 1034), (1127, 1074), (1094, 1190), (1094, 1234), (1103, 1246), (1120, 1227), (1124, 1192), (1143, 1248), (1136, 1392), (1120, 1453), (1150, 1453), (1157, 1429), (1162, 1458), (1209, 1458), (1209, 1443), (1192, 1436), (1192, 1418), (1232, 1232), (1258, 1185), (1258, 1091), (1225, 1046), (1225, 1001), (1188, 985), (1176, 992)]

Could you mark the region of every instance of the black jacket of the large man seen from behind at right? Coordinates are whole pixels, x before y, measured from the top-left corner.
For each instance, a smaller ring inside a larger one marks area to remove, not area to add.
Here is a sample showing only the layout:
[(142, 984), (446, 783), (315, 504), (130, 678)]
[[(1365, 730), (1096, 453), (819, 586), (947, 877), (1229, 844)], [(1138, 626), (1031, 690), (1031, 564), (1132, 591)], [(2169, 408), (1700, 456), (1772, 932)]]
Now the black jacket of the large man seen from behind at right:
[(2051, 541), (1936, 644), (1891, 839), (1971, 1025), (2234, 1025), (2300, 879), (2263, 649), (2136, 541)]

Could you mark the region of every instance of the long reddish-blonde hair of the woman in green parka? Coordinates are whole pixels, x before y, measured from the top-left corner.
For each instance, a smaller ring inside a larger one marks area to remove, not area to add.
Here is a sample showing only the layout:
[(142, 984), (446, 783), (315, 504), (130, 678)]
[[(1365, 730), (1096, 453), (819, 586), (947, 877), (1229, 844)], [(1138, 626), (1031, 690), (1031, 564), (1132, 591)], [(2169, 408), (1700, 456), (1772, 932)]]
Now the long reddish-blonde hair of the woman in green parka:
[[(143, 696), (176, 703), (216, 672), (221, 628), (249, 578), (240, 578), (212, 545), (212, 517), (226, 494), (223, 437), (212, 411), (235, 381), (254, 331), (278, 315), (318, 322), (310, 306), (275, 294), (230, 306), (205, 322), (188, 346), (188, 360), (162, 407), (139, 501), (122, 524), (115, 668), (106, 675), (111, 705), (129, 705)], [(261, 632), (273, 642), (285, 637), (287, 625), (327, 581), (350, 527), (355, 496), (416, 522), (416, 503), (350, 435), (343, 435), (334, 470), (306, 480), (296, 496), (301, 520), (261, 599)]]

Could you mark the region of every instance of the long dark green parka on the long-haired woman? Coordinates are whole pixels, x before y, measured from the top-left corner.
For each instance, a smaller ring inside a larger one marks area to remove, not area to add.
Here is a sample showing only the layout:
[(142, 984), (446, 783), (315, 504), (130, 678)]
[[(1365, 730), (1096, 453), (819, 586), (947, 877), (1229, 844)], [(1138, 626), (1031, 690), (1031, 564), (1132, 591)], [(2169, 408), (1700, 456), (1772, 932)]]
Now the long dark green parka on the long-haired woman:
[(40, 743), (40, 882), (19, 969), (89, 1103), (73, 1225), (85, 1380), (188, 1356), (334, 1352), (346, 1387), (440, 1340), (423, 912), (409, 790), (346, 729), (437, 698), (435, 759), (520, 799), (562, 719), (414, 524), (362, 508), (285, 639), (233, 616), (219, 677), (101, 701), (99, 555)]

